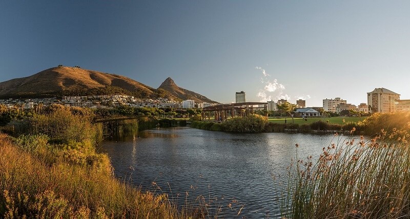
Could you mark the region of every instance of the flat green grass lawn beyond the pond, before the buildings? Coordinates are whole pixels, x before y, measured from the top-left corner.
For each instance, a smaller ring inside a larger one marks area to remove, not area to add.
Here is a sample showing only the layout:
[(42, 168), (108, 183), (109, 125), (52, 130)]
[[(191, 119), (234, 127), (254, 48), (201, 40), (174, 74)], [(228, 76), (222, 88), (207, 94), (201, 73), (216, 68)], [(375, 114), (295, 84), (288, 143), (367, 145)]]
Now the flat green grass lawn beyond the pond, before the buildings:
[[(322, 120), (323, 122), (326, 122), (327, 120), (329, 120), (330, 123), (335, 123), (335, 124), (343, 124), (343, 120), (344, 122), (359, 122), (359, 121), (363, 121), (365, 118), (365, 116), (362, 117), (326, 117), (326, 118), (314, 118), (314, 117), (308, 117), (308, 121), (304, 121), (304, 119), (302, 118), (294, 118), (295, 120), (295, 124), (310, 124), (312, 122), (317, 122), (319, 120)], [(269, 117), (268, 121), (272, 122), (272, 123), (285, 123), (285, 119), (286, 119), (286, 123), (291, 124), (292, 123), (292, 117), (288, 117), (288, 118), (274, 118), (274, 117)]]

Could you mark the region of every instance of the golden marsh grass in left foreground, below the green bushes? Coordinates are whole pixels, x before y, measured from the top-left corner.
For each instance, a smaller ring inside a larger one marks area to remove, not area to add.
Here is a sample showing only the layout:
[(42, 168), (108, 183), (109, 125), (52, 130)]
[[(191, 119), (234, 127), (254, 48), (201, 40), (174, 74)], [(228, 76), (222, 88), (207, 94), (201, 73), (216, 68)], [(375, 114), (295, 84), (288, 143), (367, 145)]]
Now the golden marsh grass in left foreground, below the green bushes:
[[(120, 183), (95, 166), (50, 164), (0, 135), (0, 215), (6, 218), (181, 218), (167, 195)], [(110, 166), (109, 160), (105, 165)]]

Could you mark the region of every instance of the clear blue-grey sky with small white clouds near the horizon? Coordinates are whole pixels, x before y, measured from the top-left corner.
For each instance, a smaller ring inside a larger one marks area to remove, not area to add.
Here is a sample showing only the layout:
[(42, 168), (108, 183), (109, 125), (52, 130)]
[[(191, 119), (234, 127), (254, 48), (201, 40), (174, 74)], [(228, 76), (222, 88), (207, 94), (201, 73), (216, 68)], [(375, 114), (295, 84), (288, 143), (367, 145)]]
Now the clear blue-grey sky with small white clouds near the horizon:
[(58, 64), (221, 103), (410, 99), (410, 1), (1, 1), (0, 81)]

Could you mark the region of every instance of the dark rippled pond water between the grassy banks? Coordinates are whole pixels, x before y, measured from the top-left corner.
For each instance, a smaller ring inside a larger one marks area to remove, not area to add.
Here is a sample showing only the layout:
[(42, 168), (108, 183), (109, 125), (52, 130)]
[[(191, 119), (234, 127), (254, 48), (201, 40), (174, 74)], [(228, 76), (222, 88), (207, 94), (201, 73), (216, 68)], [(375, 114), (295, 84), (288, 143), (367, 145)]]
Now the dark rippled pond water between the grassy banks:
[(168, 193), (180, 207), (202, 204), (209, 215), (227, 218), (275, 218), (291, 159), (317, 158), (336, 141), (333, 135), (174, 127), (107, 140), (101, 150), (121, 181)]

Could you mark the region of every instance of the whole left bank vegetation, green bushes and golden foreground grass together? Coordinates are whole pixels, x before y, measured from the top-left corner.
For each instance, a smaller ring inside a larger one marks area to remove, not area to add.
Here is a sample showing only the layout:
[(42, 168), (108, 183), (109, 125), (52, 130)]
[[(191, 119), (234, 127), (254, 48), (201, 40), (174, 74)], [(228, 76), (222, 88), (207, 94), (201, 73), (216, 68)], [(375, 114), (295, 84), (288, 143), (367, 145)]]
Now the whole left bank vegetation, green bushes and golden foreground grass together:
[(95, 142), (103, 130), (92, 119), (89, 109), (54, 105), (3, 127), (19, 135), (0, 134), (0, 217), (203, 216), (203, 212), (178, 211), (165, 194), (118, 182), (108, 156), (96, 152)]

